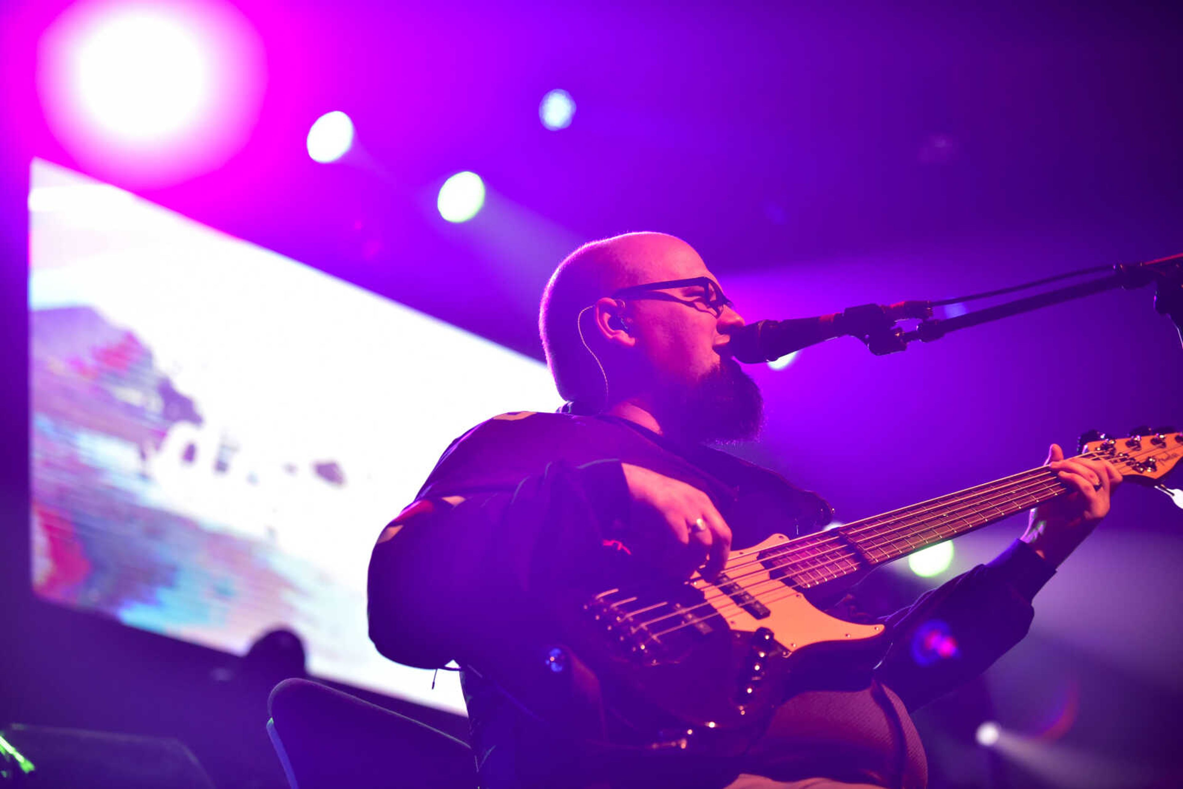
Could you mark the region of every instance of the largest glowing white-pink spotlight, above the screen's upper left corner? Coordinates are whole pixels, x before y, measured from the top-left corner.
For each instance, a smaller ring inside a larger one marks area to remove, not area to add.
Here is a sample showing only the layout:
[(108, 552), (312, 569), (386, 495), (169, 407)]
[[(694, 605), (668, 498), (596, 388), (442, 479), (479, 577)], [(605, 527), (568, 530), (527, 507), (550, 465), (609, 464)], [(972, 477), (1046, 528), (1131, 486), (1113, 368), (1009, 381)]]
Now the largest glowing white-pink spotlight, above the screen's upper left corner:
[(246, 141), (263, 47), (220, 0), (83, 2), (39, 43), (54, 136), (96, 175), (163, 186), (216, 168)]

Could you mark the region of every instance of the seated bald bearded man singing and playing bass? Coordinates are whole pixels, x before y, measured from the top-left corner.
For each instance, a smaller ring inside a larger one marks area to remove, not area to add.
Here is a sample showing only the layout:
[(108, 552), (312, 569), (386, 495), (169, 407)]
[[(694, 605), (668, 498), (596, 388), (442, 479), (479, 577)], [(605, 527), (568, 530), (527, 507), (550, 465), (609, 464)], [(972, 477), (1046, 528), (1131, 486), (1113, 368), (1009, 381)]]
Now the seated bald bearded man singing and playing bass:
[[(878, 652), (836, 661), (784, 699), (743, 756), (651, 748), (658, 732), (646, 739), (594, 668), (554, 652), (580, 603), (622, 577), (713, 580), (732, 544), (830, 519), (815, 493), (707, 446), (761, 425), (759, 390), (729, 353), (741, 326), (685, 241), (629, 233), (584, 245), (555, 271), (539, 317), (562, 413), (478, 425), (382, 531), (370, 638), (399, 662), (461, 665), (485, 789), (920, 789), (909, 711), (1016, 644), (1035, 593), (1108, 511), (1120, 476), (1053, 446), (1049, 463), (1077, 492), (1034, 511), (993, 562), (886, 617)], [(957, 640), (956, 661), (912, 658), (912, 636), (933, 620)], [(731, 678), (698, 677), (685, 692), (715, 681)]]

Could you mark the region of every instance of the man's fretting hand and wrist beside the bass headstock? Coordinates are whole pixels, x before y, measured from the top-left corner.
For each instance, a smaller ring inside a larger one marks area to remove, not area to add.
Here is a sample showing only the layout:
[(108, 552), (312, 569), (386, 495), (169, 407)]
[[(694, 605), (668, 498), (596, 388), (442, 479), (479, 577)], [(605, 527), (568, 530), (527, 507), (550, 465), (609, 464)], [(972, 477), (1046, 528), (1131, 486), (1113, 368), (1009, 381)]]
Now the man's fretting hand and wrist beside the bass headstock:
[(1056, 444), (1045, 465), (1072, 490), (1032, 510), (1022, 541), (1052, 567), (1059, 567), (1108, 513), (1110, 496), (1121, 483), (1121, 474), (1107, 460), (1065, 460)]

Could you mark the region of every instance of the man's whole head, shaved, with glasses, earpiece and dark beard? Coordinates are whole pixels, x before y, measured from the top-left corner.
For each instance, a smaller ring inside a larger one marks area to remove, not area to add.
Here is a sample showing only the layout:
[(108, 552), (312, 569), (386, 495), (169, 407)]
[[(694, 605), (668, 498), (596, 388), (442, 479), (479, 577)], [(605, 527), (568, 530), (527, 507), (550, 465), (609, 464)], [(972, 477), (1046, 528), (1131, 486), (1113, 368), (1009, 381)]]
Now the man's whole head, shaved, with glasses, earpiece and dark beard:
[[(644, 289), (621, 292), (634, 286)], [(759, 429), (759, 388), (729, 348), (742, 326), (703, 258), (665, 233), (581, 246), (550, 278), (538, 318), (574, 413), (610, 413), (702, 442)]]

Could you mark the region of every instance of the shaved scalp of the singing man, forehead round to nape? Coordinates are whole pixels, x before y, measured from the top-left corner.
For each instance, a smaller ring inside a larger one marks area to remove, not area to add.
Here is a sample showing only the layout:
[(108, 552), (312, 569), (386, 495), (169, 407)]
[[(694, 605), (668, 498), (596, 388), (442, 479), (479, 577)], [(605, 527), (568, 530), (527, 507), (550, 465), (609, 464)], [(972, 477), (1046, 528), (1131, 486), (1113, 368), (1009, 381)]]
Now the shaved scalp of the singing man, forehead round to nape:
[(584, 308), (621, 287), (705, 272), (694, 247), (666, 233), (614, 235), (567, 256), (543, 291), (538, 316), (542, 347), (558, 394), (580, 405), (600, 403), (606, 395), (600, 368), (580, 339), (577, 323)]

